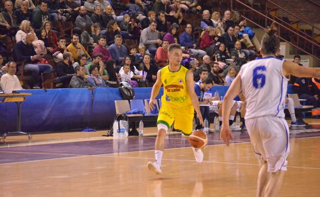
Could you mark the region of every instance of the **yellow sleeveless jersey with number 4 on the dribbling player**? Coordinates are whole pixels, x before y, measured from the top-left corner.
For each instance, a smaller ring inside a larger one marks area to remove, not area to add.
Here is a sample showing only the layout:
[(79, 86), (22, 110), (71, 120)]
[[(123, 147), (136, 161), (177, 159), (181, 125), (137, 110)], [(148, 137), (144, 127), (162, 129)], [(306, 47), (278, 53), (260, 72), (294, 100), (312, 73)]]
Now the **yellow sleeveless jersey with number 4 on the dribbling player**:
[(162, 105), (174, 108), (191, 107), (189, 91), (186, 87), (186, 72), (188, 69), (180, 65), (176, 72), (172, 72), (169, 66), (161, 69), (161, 81), (163, 84)]

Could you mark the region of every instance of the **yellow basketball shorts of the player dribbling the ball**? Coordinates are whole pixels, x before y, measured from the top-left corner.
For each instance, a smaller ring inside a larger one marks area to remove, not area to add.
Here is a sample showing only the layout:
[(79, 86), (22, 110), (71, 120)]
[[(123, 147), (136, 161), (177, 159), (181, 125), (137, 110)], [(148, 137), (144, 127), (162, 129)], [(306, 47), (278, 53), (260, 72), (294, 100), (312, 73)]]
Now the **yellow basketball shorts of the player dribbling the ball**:
[(175, 122), (174, 128), (181, 130), (185, 136), (192, 133), (192, 121), (194, 117), (194, 107), (173, 108), (163, 105), (160, 108), (157, 124), (165, 124), (168, 128)]

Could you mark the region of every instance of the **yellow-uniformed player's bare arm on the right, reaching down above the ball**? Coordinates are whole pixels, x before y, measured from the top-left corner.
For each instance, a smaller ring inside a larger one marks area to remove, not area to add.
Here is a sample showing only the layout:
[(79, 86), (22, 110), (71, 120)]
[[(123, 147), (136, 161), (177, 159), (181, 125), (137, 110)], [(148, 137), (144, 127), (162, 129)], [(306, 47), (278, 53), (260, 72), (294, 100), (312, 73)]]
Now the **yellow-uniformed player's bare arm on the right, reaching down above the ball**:
[(196, 112), (197, 112), (197, 117), (200, 121), (200, 124), (201, 125), (204, 125), (203, 123), (203, 119), (202, 119), (202, 115), (201, 115), (201, 112), (200, 112), (200, 108), (199, 108), (199, 101), (198, 101), (198, 96), (195, 92), (195, 85), (194, 85), (194, 82), (193, 82), (193, 73), (187, 71), (186, 73), (186, 87), (189, 91), (189, 95), (190, 95), (190, 99), (191, 99), (191, 102), (192, 102), (192, 105), (193, 107), (195, 108)]

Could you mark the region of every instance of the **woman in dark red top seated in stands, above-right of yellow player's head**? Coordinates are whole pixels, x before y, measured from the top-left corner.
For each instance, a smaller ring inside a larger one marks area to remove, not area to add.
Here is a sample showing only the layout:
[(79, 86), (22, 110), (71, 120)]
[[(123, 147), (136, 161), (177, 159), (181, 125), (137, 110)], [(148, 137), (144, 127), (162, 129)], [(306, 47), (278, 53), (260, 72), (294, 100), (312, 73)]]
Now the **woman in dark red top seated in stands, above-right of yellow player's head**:
[(216, 37), (216, 40), (214, 40), (214, 28), (212, 26), (208, 26), (205, 28), (205, 30), (201, 33), (201, 42), (200, 42), (200, 49), (204, 50), (206, 54), (208, 54), (210, 57), (213, 56), (215, 49), (216, 49), (216, 40), (218, 38)]

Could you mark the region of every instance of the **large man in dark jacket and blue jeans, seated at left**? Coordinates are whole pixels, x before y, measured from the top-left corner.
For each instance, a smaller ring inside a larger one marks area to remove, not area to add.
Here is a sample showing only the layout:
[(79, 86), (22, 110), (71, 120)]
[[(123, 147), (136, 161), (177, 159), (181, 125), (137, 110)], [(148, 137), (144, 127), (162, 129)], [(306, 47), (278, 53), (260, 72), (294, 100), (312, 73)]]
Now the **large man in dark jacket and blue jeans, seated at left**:
[(26, 61), (25, 70), (32, 72), (33, 88), (40, 88), (40, 73), (51, 73), (52, 66), (48, 64), (37, 64), (41, 61), (42, 57), (36, 55), (32, 42), (34, 41), (34, 35), (32, 33), (27, 33), (25, 40), (20, 41), (14, 46), (14, 55), (16, 61)]

